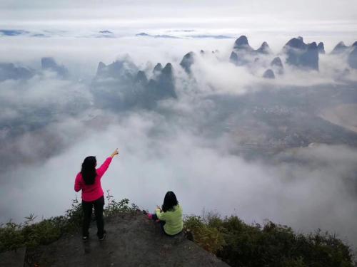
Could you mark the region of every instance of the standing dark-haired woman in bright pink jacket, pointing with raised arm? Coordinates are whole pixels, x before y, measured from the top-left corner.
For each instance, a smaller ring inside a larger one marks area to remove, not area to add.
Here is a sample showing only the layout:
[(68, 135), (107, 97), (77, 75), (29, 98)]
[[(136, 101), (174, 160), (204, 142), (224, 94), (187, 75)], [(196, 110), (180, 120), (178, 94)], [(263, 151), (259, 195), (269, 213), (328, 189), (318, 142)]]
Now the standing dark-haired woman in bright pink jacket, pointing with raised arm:
[(104, 208), (104, 192), (101, 188), (101, 177), (111, 164), (111, 159), (118, 155), (116, 149), (110, 157), (108, 157), (101, 167), (96, 169), (96, 157), (89, 156), (84, 159), (82, 169), (76, 176), (74, 183), (74, 190), (79, 192), (82, 190), (82, 209), (84, 213), (82, 239), (87, 241), (89, 238), (89, 224), (91, 224), (91, 211), (94, 206), (94, 214), (96, 215), (96, 226), (99, 240), (106, 238), (106, 231), (104, 231), (103, 208)]

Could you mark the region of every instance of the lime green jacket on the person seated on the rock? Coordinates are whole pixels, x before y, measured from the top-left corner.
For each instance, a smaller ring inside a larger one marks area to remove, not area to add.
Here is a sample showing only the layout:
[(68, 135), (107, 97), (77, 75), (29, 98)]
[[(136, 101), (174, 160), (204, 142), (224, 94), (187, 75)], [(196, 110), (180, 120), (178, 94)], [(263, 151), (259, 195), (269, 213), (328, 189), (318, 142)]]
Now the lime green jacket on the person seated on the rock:
[(161, 221), (165, 221), (164, 231), (171, 236), (178, 234), (183, 229), (182, 208), (180, 205), (174, 206), (173, 211), (160, 211), (156, 209), (156, 215)]

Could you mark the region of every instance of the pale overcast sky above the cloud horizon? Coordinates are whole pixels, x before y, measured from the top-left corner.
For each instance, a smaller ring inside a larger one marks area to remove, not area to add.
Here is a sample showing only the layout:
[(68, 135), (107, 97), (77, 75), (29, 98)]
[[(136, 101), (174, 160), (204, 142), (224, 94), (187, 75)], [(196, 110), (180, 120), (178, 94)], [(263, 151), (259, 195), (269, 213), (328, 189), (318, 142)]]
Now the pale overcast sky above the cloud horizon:
[[(1, 27), (214, 26), (356, 31), (355, 0), (11, 1), (0, 2)], [(331, 26), (333, 26), (331, 28)]]

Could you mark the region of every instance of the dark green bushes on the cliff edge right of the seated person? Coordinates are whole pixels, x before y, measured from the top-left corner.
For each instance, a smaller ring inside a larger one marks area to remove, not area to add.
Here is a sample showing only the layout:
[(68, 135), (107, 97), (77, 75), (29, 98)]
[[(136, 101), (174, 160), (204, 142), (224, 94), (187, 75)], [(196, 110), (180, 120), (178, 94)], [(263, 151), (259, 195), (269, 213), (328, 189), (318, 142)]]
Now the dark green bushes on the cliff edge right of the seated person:
[[(245, 224), (237, 216), (221, 219), (217, 215), (188, 216), (185, 228), (193, 233), (193, 241), (231, 266), (353, 267), (351, 248), (320, 230), (295, 234), (290, 227), (271, 221), (261, 226)], [(207, 238), (207, 229), (217, 234)]]

